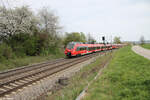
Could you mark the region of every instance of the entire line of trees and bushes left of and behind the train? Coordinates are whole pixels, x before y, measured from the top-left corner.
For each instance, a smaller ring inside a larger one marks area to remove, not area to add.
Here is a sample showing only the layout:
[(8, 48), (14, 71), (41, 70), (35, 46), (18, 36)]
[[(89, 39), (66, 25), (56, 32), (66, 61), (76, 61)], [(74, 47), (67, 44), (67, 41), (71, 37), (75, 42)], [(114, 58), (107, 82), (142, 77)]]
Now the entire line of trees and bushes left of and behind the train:
[(88, 41), (82, 32), (62, 35), (61, 29), (59, 17), (51, 9), (43, 8), (35, 14), (27, 6), (0, 7), (0, 61), (56, 54), (68, 42)]

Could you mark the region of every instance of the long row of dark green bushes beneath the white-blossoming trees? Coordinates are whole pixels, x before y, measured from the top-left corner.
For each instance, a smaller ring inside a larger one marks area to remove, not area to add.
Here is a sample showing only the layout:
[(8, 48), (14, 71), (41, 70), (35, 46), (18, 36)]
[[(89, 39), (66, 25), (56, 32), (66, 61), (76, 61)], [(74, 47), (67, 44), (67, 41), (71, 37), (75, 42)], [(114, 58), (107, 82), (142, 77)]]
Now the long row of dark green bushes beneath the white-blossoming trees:
[[(9, 45), (10, 51), (6, 50), (6, 57), (9, 59), (8, 52), (14, 52), (17, 57), (57, 54), (59, 40), (53, 40), (47, 33), (19, 33), (14, 34), (5, 41)], [(6, 45), (5, 44), (5, 45)], [(2, 57), (1, 57), (2, 59)]]

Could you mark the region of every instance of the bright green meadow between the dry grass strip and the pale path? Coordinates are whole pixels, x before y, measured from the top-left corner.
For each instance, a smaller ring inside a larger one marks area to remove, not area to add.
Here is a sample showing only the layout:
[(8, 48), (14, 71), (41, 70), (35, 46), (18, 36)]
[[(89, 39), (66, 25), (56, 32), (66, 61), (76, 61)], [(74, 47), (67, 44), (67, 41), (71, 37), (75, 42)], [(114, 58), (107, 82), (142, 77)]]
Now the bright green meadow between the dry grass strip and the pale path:
[(150, 100), (150, 60), (121, 48), (84, 100)]

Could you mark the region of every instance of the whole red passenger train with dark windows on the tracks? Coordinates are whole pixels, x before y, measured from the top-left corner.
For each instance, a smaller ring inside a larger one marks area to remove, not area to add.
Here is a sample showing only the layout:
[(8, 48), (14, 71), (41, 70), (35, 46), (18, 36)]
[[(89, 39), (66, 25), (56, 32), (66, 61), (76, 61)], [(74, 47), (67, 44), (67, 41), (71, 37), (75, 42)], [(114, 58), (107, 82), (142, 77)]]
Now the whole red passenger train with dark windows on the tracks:
[(66, 49), (65, 55), (67, 57), (72, 56), (80, 56), (85, 55), (93, 52), (104, 51), (104, 50), (111, 50), (115, 48), (119, 48), (118, 44), (83, 44), (82, 42), (70, 42)]

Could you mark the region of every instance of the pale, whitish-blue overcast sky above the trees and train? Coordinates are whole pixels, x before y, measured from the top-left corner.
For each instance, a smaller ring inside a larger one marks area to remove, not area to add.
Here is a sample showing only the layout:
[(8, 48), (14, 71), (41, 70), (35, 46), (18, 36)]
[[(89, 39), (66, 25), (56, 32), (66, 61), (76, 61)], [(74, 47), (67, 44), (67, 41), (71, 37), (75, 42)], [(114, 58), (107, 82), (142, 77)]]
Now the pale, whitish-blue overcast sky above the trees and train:
[[(3, 0), (5, 1), (5, 0)], [(120, 36), (122, 40), (150, 40), (150, 0), (8, 0), (13, 6), (29, 5), (33, 11), (46, 6), (60, 16), (64, 32)], [(7, 4), (7, 3), (6, 3)]]

